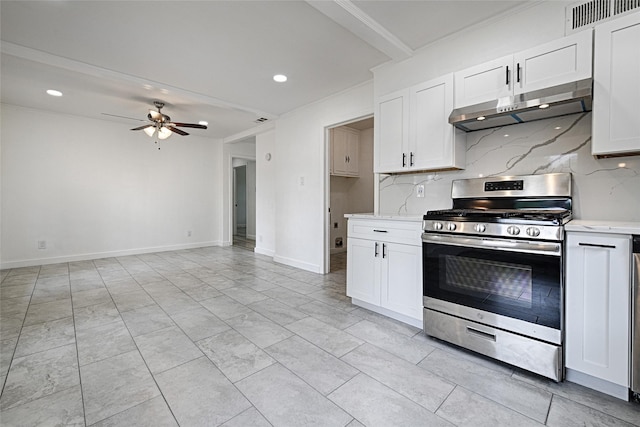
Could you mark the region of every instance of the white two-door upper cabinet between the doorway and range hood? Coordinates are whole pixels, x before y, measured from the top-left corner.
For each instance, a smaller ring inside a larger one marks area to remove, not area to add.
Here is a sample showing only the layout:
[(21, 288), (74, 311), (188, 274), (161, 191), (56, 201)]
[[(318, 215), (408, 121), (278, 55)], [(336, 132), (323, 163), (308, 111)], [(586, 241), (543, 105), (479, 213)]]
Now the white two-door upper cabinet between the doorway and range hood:
[(381, 97), (375, 172), (462, 169), (465, 136), (449, 124), (452, 110), (453, 74)]

